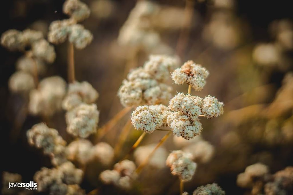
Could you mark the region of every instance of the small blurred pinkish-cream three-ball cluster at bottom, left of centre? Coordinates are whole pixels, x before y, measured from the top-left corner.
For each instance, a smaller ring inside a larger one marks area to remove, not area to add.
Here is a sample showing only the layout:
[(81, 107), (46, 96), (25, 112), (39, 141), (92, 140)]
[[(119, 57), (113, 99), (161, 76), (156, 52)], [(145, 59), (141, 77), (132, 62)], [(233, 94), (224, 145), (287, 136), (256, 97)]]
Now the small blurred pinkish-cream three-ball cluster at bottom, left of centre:
[(101, 172), (100, 179), (105, 184), (114, 184), (122, 189), (130, 189), (133, 180), (137, 177), (136, 166), (130, 160), (123, 160), (114, 165), (114, 170)]

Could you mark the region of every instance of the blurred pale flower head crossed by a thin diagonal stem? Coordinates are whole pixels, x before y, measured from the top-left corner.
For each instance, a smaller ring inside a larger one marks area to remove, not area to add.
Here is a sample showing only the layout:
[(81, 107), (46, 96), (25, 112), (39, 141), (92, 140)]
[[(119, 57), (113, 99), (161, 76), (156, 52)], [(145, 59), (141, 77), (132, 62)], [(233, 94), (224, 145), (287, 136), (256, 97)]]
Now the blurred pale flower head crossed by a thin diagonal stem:
[[(140, 146), (134, 151), (134, 159), (136, 164), (142, 164), (145, 159), (148, 158), (149, 154), (154, 150), (156, 144), (149, 144), (146, 146)], [(158, 148), (153, 156), (149, 159), (148, 165), (151, 168), (164, 168), (166, 167), (166, 159), (168, 156), (168, 152), (165, 148)]]

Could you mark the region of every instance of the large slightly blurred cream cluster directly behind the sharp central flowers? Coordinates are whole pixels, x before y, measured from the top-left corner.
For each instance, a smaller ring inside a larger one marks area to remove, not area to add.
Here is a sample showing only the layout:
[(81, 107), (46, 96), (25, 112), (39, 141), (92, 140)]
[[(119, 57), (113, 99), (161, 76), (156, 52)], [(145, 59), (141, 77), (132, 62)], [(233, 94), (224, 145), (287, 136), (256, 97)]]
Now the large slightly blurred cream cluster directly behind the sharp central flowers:
[(179, 64), (178, 58), (151, 55), (143, 67), (132, 70), (118, 91), (123, 106), (166, 104), (172, 88), (163, 82)]

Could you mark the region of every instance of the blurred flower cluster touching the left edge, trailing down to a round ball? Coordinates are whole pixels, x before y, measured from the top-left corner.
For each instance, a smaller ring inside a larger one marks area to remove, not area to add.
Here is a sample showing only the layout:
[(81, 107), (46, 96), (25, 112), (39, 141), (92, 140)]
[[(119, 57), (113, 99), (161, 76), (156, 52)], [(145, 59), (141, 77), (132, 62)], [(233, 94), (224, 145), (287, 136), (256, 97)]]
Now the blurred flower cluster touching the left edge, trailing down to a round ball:
[[(11, 75), (8, 81), (8, 87), (12, 92), (28, 94), (35, 88), (35, 67), (38, 72), (44, 73), (44, 62), (53, 63), (56, 58), (54, 47), (44, 39), (40, 31), (7, 30), (1, 35), (1, 45), (11, 51), (25, 52), (25, 56), (17, 61), (17, 72)], [(30, 50), (26, 51), (27, 49)]]

